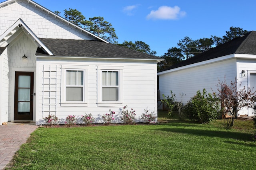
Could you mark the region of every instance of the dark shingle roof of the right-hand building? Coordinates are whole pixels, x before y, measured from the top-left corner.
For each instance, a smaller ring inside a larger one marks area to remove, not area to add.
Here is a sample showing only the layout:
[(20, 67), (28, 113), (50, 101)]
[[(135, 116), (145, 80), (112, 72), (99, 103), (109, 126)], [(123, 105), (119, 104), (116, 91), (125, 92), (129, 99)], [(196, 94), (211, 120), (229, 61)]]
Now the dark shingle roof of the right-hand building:
[(208, 51), (195, 55), (189, 59), (186, 59), (178, 64), (172, 65), (162, 71), (171, 70), (174, 68), (207, 61), (210, 59), (216, 59), (218, 57), (230, 55), (230, 54), (256, 54), (256, 31), (250, 31), (244, 36), (232, 39), (229, 42), (218, 45)]

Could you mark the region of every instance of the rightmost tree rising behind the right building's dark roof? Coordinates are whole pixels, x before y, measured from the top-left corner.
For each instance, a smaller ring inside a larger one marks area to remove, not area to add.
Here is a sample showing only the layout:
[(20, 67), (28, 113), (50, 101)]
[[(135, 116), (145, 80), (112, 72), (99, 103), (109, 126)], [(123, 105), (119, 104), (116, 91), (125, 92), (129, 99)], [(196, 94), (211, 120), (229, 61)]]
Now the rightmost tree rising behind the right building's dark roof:
[(226, 31), (226, 35), (224, 35), (222, 38), (217, 37), (217, 36), (211, 36), (214, 39), (214, 43), (216, 45), (226, 43), (236, 37), (240, 37), (240, 36), (245, 35), (246, 33), (250, 32), (247, 30), (243, 30), (240, 27), (230, 27), (229, 29), (230, 29), (230, 31)]

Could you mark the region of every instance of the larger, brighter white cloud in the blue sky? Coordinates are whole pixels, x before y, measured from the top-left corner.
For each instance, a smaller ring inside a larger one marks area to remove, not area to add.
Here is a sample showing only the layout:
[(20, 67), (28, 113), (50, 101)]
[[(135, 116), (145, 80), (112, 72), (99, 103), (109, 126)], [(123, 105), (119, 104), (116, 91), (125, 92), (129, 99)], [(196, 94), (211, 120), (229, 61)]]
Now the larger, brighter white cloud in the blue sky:
[(147, 19), (160, 19), (160, 20), (176, 20), (186, 15), (186, 12), (180, 11), (180, 7), (174, 6), (160, 6), (158, 10), (152, 10), (148, 14)]

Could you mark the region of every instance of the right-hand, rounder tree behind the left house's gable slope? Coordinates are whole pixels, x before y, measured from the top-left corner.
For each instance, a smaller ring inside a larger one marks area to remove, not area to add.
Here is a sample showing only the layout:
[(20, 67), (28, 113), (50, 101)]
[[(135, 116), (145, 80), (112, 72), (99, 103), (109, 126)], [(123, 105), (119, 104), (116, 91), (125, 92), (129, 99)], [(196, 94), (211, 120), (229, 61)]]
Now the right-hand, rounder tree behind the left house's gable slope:
[(110, 43), (117, 43), (115, 29), (112, 24), (104, 21), (103, 17), (93, 17), (85, 21), (86, 30), (90, 31), (94, 35), (98, 35), (102, 39), (107, 40)]

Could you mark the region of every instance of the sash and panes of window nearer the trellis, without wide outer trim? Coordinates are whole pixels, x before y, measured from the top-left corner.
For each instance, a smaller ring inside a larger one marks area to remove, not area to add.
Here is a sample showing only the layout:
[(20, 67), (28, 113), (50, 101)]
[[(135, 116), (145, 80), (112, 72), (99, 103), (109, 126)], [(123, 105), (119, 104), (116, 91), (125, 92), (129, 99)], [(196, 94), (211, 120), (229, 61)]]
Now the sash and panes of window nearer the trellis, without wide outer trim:
[(84, 71), (66, 70), (66, 101), (84, 101)]

